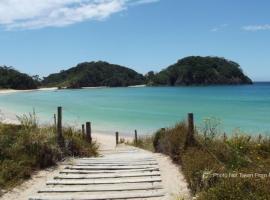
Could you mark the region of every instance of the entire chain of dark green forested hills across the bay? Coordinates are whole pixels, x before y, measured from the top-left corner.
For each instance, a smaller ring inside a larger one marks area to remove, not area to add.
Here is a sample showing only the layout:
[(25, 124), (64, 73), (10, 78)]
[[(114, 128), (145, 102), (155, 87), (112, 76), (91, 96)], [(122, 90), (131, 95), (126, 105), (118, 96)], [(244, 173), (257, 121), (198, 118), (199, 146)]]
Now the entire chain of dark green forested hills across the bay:
[(43, 80), (13, 68), (0, 67), (0, 87), (11, 89), (239, 84), (252, 84), (252, 81), (238, 63), (219, 57), (186, 57), (158, 73), (150, 71), (145, 76), (127, 67), (102, 61), (80, 63), (50, 74)]

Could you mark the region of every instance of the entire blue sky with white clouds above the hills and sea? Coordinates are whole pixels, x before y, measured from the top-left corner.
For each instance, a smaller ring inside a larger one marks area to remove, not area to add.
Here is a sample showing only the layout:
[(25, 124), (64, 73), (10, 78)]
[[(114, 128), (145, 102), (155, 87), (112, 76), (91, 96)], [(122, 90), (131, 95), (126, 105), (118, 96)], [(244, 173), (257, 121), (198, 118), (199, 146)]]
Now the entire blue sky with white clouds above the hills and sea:
[(45, 76), (104, 60), (146, 73), (210, 55), (269, 81), (269, 9), (268, 0), (3, 0), (0, 65)]

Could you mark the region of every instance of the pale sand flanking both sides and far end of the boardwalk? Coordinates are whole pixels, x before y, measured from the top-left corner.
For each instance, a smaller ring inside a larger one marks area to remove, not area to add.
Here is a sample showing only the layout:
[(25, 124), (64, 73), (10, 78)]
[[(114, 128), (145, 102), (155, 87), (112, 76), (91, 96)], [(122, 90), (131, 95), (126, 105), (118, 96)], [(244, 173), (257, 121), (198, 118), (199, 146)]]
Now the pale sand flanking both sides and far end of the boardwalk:
[[(110, 149), (115, 148), (115, 137), (113, 135), (93, 134), (93, 138), (100, 144), (101, 152), (110, 151)], [(165, 192), (168, 194), (166, 199), (176, 200), (176, 197), (190, 199), (187, 183), (178, 166), (174, 165), (171, 160), (164, 155), (153, 154), (153, 156), (158, 161), (160, 167), (162, 184)], [(48, 180), (52, 180), (52, 178), (63, 169), (61, 168), (61, 164), (63, 163), (59, 163), (60, 167), (49, 168), (35, 173), (30, 180), (6, 193), (0, 197), (0, 199), (28, 200), (28, 198), (36, 194), (38, 190), (44, 188)]]

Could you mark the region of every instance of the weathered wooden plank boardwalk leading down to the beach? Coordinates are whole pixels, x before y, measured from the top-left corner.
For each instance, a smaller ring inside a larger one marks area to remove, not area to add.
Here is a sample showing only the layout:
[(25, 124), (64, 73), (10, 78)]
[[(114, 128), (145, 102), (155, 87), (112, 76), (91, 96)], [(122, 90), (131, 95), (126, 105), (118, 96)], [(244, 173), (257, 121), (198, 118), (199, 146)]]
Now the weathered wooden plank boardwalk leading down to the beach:
[(163, 200), (159, 166), (151, 153), (118, 146), (101, 157), (75, 159), (29, 200)]

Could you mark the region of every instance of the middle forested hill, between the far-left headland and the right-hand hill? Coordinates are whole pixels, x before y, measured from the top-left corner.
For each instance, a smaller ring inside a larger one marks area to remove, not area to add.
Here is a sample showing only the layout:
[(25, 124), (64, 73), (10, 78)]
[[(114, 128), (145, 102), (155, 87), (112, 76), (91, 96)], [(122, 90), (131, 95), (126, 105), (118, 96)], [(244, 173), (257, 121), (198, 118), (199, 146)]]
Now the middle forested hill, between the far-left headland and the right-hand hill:
[(107, 62), (85, 62), (76, 67), (51, 74), (42, 81), (43, 86), (68, 88), (122, 87), (144, 84), (143, 75), (136, 71)]

